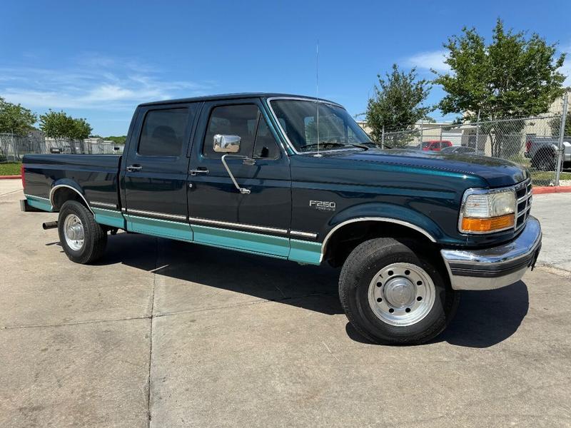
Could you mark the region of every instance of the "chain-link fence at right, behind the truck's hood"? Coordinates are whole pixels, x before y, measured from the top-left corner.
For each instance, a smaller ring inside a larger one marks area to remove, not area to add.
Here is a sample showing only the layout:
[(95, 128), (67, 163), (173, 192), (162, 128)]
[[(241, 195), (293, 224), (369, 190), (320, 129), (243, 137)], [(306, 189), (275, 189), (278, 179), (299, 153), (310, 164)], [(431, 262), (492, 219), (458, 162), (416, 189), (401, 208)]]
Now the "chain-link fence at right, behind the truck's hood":
[(564, 114), (454, 125), (421, 123), (383, 133), (381, 145), (458, 153), (468, 161), (471, 156), (465, 154), (502, 158), (529, 168), (535, 185), (571, 185), (571, 172), (566, 172), (571, 168), (571, 136), (560, 138), (562, 130)]

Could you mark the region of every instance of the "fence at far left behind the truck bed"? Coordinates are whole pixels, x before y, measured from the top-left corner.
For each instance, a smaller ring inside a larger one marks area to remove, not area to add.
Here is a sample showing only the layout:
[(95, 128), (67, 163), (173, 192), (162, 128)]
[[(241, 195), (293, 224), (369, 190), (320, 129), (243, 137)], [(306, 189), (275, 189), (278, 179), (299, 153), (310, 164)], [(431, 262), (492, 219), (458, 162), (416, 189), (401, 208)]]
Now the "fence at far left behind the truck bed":
[(43, 135), (34, 133), (27, 136), (0, 133), (0, 162), (19, 162), (26, 153), (113, 155), (122, 152), (123, 146), (101, 138), (68, 140), (44, 138)]

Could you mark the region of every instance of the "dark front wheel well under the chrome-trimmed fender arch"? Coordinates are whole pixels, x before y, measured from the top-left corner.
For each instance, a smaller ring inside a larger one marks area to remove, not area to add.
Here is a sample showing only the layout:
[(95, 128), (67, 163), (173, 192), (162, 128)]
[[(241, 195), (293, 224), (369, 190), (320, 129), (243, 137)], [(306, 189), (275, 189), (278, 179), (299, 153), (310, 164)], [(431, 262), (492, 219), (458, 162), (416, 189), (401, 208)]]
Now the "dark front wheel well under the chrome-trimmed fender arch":
[(323, 259), (333, 267), (343, 265), (357, 245), (373, 238), (395, 238), (407, 241), (415, 247), (416, 251), (430, 258), (437, 255), (436, 259), (442, 262), (440, 248), (428, 236), (405, 225), (375, 220), (349, 223), (335, 230), (326, 243)]

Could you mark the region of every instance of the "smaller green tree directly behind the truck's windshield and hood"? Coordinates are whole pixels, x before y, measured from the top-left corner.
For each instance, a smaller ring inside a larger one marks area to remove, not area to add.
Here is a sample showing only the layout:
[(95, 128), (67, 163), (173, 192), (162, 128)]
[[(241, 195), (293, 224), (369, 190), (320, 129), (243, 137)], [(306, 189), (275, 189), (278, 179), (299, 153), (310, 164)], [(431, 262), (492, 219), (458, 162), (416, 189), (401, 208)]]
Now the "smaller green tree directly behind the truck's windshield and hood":
[[(432, 107), (423, 107), (430, 93), (430, 84), (425, 79), (417, 80), (416, 69), (408, 73), (399, 71), (398, 66), (393, 64), (393, 71), (381, 78), (378, 86), (375, 85), (375, 94), (369, 98), (365, 118), (371, 128), (373, 140), (380, 141), (385, 132), (412, 129), (420, 120), (428, 120), (428, 113)], [(392, 138), (386, 141), (389, 146), (404, 146), (412, 134), (402, 134), (407, 138)]]

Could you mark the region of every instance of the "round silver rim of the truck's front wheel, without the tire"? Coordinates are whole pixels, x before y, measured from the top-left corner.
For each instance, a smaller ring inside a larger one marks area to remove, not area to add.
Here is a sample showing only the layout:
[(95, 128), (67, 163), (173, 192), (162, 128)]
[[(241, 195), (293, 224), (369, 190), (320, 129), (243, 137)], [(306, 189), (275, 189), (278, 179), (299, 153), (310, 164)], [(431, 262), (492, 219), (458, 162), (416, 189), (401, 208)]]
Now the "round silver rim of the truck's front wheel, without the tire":
[(412, 263), (383, 267), (369, 285), (369, 306), (375, 316), (398, 327), (422, 320), (433, 308), (435, 298), (432, 278)]

